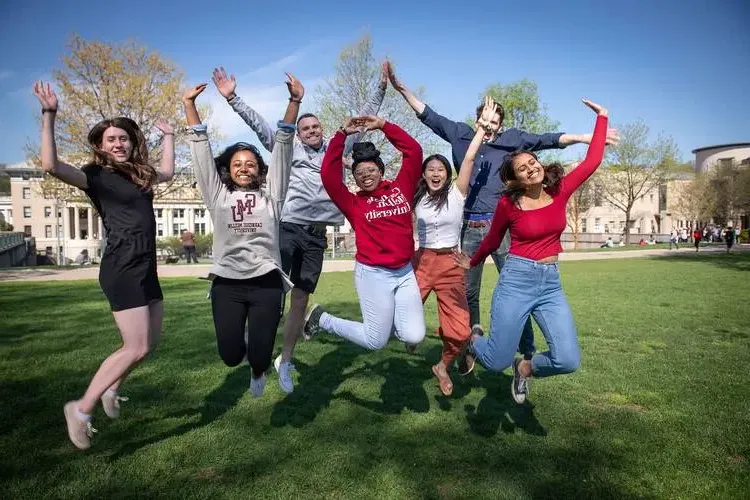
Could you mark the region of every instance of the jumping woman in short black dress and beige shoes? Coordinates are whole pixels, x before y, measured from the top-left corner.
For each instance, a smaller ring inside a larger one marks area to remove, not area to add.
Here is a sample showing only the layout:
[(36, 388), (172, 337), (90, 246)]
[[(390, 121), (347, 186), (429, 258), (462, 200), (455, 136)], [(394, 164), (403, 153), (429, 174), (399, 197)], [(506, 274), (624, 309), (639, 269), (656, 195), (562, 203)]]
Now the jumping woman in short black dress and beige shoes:
[(164, 134), (157, 170), (148, 163), (146, 138), (133, 120), (103, 120), (88, 135), (93, 161), (78, 169), (57, 158), (57, 96), (43, 82), (34, 85), (34, 95), (42, 105), (42, 169), (83, 190), (107, 231), (99, 283), (123, 345), (104, 360), (83, 397), (64, 407), (70, 440), (86, 449), (91, 446), (91, 412), (97, 402), (101, 400), (110, 418), (119, 416), (124, 398), (117, 388), (161, 334), (164, 310), (156, 274), (153, 186), (174, 174), (174, 129), (163, 120), (156, 124)]

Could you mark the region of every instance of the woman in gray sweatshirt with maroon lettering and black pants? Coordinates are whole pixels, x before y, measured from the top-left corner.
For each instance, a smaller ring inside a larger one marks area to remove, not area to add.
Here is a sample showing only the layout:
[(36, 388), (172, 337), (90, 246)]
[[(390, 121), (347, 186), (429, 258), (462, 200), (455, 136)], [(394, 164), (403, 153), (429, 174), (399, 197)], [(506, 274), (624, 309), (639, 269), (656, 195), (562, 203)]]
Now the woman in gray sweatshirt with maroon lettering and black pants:
[(250, 392), (256, 398), (265, 388), (284, 293), (292, 287), (279, 254), (279, 219), (290, 175), (289, 165), (282, 168), (280, 158), (293, 147), (293, 117), (304, 88), (287, 76), (289, 106), (276, 131), (270, 167), (257, 148), (244, 142), (214, 159), (207, 127), (195, 106), (206, 84), (188, 89), (182, 98), (191, 128), (188, 142), (195, 178), (214, 225), (209, 278), (219, 355), (227, 366), (237, 366), (247, 357)]

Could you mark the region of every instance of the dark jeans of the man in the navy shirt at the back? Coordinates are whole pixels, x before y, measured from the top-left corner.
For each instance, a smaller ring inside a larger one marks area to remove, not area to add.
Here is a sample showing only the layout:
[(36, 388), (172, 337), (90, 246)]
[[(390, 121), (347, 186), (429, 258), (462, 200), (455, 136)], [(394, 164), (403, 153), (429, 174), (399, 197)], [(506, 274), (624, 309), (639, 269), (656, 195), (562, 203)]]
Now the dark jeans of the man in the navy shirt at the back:
[[(477, 251), (479, 244), (482, 243), (482, 240), (489, 230), (490, 221), (487, 221), (487, 225), (484, 227), (469, 227), (467, 221), (464, 220), (464, 225), (461, 228), (462, 251), (466, 255), (474, 255), (474, 252)], [(500, 248), (491, 254), (497, 272), (501, 276), (503, 264), (505, 264), (505, 259), (508, 256), (508, 248), (510, 248), (510, 233), (505, 234), (505, 238), (503, 238)], [(469, 323), (471, 326), (482, 324), (479, 316), (479, 293), (482, 289), (483, 270), (484, 265), (480, 264), (466, 271), (466, 300), (469, 303)], [(536, 347), (534, 347), (534, 330), (531, 327), (531, 318), (529, 318), (523, 327), (523, 334), (518, 343), (518, 352), (523, 354), (526, 358), (530, 358), (534, 351), (536, 351)]]

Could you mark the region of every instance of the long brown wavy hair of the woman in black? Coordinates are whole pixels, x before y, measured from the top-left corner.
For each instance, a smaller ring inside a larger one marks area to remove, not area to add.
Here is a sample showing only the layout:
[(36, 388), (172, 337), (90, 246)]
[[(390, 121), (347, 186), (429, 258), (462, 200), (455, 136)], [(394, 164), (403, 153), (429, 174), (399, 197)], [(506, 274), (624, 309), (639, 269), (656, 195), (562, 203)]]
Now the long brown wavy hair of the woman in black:
[[(127, 161), (117, 161), (111, 153), (102, 149), (104, 132), (110, 127), (122, 129), (128, 134), (133, 150)], [(138, 124), (130, 118), (120, 116), (100, 121), (89, 131), (88, 142), (97, 165), (124, 173), (141, 191), (149, 191), (156, 183), (156, 169), (148, 163), (146, 137)]]

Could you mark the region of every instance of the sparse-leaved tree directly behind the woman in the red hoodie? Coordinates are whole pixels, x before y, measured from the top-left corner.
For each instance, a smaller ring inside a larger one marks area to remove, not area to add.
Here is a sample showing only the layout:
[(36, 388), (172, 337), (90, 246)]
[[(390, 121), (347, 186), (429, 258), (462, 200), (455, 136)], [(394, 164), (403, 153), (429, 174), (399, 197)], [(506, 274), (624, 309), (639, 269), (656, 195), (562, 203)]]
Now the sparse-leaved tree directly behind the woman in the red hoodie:
[[(371, 37), (364, 35), (345, 46), (339, 54), (335, 70), (334, 76), (318, 86), (314, 94), (317, 103), (315, 114), (329, 134), (363, 109), (382, 82), (381, 63), (373, 55)], [(420, 87), (416, 92), (422, 96), (424, 89)], [(386, 90), (378, 116), (406, 130), (422, 145), (425, 154), (437, 148), (432, 132), (419, 121), (409, 105), (391, 87)], [(386, 177), (395, 176), (401, 164), (401, 155), (388, 140), (382, 134), (368, 132), (360, 141), (373, 142), (381, 151)]]

